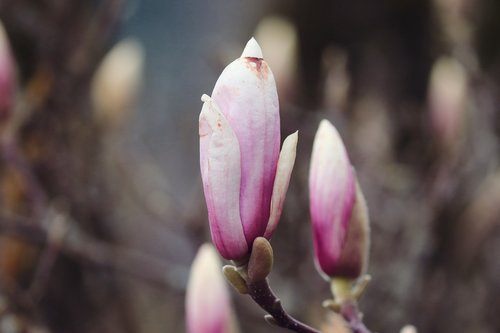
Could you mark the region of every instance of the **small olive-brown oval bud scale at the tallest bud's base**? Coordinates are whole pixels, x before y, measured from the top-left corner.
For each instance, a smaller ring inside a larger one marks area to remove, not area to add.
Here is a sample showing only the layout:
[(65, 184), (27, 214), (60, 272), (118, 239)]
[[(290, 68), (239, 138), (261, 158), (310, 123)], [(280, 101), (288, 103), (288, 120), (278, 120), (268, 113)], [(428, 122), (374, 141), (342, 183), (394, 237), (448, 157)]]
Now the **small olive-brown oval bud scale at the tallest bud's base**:
[(252, 246), (248, 262), (248, 279), (251, 282), (263, 281), (273, 268), (273, 248), (267, 239), (257, 237)]

